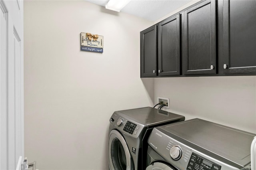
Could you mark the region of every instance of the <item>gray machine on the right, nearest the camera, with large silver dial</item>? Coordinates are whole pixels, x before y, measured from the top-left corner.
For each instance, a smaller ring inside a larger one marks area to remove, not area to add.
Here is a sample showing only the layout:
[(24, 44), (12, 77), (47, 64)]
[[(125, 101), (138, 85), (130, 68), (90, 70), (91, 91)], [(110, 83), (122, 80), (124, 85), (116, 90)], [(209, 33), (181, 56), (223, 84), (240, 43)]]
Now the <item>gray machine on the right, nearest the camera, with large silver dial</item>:
[(254, 136), (202, 119), (156, 127), (146, 170), (250, 170)]

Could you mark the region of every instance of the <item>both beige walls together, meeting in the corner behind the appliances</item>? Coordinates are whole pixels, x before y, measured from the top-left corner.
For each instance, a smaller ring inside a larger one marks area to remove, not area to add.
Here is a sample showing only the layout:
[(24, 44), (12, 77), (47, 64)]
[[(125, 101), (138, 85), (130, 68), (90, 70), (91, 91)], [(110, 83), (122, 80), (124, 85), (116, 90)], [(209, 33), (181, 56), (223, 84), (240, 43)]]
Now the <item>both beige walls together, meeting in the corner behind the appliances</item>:
[[(139, 32), (154, 23), (85, 1), (24, 1), (29, 162), (41, 170), (106, 170), (112, 113), (153, 106), (158, 96), (186, 119), (256, 132), (255, 76), (140, 79)], [(104, 53), (80, 51), (80, 32), (104, 36)]]

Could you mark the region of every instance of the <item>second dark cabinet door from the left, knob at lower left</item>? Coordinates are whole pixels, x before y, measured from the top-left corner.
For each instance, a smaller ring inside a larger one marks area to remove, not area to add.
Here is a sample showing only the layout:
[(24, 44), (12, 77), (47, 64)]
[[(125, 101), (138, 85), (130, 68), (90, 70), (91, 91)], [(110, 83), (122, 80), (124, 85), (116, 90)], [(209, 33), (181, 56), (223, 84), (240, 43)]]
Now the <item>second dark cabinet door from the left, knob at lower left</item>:
[(180, 14), (158, 24), (158, 75), (180, 75)]

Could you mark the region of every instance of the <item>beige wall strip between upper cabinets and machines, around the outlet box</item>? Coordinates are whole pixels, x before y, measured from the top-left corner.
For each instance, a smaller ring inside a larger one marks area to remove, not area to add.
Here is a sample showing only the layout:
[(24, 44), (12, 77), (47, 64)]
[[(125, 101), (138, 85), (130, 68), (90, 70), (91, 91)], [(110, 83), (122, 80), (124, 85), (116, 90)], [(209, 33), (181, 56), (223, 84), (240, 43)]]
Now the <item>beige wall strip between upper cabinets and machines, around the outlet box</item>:
[[(154, 98), (170, 111), (256, 133), (256, 76), (155, 78)], [(164, 110), (164, 109), (163, 109)]]

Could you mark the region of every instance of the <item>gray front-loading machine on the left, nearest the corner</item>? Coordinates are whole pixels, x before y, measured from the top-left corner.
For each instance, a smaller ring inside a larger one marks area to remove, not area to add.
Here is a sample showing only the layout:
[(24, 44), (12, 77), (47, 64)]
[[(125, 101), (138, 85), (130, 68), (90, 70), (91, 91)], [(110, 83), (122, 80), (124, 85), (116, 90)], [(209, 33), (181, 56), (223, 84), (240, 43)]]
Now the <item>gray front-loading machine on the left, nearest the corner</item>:
[(110, 170), (145, 170), (152, 129), (184, 120), (184, 116), (152, 107), (115, 111), (110, 118), (108, 138)]

